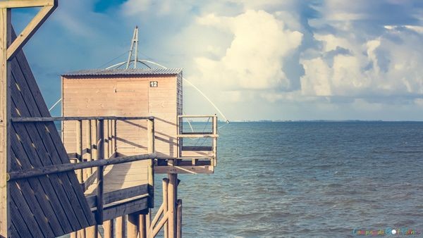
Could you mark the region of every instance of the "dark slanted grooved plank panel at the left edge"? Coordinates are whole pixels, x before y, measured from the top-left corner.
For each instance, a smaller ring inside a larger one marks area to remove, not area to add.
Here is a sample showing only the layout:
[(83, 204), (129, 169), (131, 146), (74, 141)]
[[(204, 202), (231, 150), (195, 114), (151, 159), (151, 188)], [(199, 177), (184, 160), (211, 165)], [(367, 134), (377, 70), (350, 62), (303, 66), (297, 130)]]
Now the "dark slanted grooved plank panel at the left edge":
[[(11, 61), (11, 116), (50, 117), (20, 51)], [(11, 171), (70, 163), (53, 122), (13, 123)], [(73, 171), (10, 183), (11, 237), (58, 237), (95, 224)]]

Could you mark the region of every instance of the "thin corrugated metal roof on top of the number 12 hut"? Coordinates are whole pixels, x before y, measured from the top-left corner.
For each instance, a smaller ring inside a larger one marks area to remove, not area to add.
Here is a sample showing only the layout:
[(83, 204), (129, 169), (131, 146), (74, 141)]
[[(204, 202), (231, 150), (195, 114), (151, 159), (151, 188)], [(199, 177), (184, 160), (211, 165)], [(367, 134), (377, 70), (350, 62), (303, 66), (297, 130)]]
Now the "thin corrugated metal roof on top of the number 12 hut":
[(92, 76), (92, 75), (178, 75), (182, 68), (115, 68), (78, 70), (65, 73), (62, 76)]

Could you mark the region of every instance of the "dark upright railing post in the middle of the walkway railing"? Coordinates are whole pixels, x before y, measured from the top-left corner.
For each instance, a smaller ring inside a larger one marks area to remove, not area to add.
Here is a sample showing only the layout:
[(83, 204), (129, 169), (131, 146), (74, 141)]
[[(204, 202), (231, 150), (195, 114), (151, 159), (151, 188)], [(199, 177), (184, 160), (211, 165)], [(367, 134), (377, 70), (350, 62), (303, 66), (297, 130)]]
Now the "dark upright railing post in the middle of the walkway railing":
[[(97, 160), (104, 159), (104, 120), (99, 120), (97, 127)], [(103, 166), (97, 168), (97, 225), (103, 224)]]

